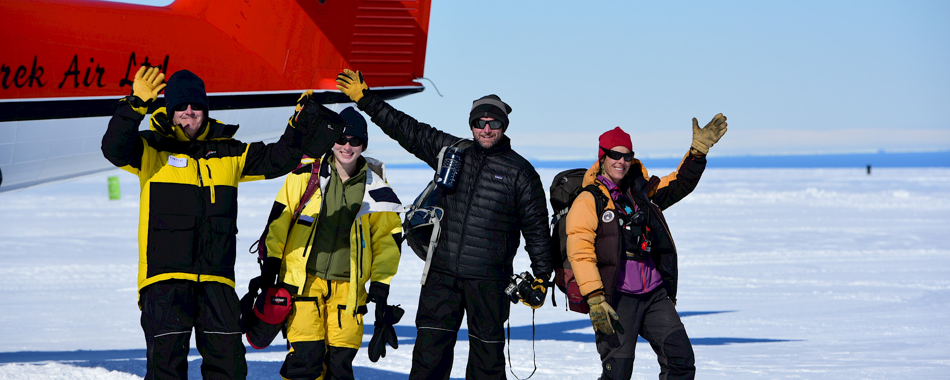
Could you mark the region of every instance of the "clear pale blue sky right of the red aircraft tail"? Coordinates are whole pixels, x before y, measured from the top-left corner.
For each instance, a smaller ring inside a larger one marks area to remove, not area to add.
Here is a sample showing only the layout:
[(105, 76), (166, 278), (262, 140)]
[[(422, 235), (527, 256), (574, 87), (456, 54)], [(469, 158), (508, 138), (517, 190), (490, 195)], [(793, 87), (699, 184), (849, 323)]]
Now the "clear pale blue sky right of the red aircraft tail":
[(679, 156), (717, 112), (711, 157), (946, 150), (950, 2), (435, 0), (426, 77), (445, 97), (392, 104), (467, 136), (471, 101), (498, 94), (534, 160), (594, 159), (617, 125), (638, 157)]

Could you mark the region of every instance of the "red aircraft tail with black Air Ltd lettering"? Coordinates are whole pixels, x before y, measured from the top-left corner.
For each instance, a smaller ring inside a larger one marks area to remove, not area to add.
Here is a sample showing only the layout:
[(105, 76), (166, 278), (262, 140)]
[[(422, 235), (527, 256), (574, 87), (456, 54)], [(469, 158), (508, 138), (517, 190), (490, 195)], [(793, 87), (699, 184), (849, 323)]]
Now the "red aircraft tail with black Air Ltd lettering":
[(386, 98), (418, 92), (429, 1), (7, 0), (0, 122), (111, 115), (142, 65), (195, 72), (212, 109), (293, 104), (304, 89), (335, 90), (345, 67)]

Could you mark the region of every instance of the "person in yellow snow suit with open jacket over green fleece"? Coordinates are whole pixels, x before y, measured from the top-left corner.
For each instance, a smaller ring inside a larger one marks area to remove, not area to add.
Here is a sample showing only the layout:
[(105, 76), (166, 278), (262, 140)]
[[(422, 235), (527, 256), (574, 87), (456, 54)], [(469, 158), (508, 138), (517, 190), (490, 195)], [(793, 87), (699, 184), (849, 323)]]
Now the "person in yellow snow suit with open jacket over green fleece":
[[(289, 380), (353, 378), (367, 302), (376, 303), (378, 327), (399, 266), (402, 203), (383, 162), (362, 156), (366, 120), (352, 107), (340, 116), (343, 136), (323, 157), (305, 156), (287, 176), (267, 227), (260, 286), (276, 284), (293, 300), (291, 351), (280, 369)], [(301, 205), (309, 184), (313, 195)], [(394, 346), (394, 333), (391, 338)]]

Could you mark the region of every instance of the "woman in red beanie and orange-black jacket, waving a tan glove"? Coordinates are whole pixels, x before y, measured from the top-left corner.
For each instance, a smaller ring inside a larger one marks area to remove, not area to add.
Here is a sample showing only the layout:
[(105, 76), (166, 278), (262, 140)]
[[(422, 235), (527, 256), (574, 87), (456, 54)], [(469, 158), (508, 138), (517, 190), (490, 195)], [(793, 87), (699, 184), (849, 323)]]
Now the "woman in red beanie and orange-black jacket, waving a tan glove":
[(599, 138), (599, 160), (567, 214), (567, 254), (590, 306), (601, 379), (630, 379), (637, 335), (656, 352), (660, 379), (693, 379), (693, 346), (675, 309), (676, 249), (662, 210), (695, 188), (706, 153), (726, 132), (693, 119), (693, 146), (676, 171), (650, 177), (620, 127)]

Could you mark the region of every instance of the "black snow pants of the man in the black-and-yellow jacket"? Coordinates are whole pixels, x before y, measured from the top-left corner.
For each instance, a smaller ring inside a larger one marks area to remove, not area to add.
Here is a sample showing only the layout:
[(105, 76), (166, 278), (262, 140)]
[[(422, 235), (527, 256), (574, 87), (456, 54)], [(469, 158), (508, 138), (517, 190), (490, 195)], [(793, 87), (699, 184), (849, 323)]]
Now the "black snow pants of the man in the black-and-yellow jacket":
[(187, 379), (191, 331), (201, 354), (201, 377), (247, 377), (234, 288), (218, 281), (165, 280), (142, 289), (145, 379)]

